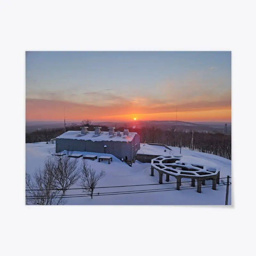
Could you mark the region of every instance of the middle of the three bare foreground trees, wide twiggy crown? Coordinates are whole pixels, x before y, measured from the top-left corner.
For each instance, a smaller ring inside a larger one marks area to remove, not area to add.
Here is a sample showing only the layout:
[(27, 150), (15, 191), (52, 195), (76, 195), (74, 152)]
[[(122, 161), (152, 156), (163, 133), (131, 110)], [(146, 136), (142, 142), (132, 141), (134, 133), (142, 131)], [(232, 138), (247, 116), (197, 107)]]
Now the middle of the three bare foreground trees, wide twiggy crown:
[(47, 161), (47, 166), (52, 168), (53, 172), (53, 187), (61, 189), (62, 196), (65, 196), (66, 191), (72, 185), (76, 184), (79, 179), (79, 170), (77, 170), (77, 158), (69, 157), (71, 153), (68, 152), (64, 156), (52, 156)]

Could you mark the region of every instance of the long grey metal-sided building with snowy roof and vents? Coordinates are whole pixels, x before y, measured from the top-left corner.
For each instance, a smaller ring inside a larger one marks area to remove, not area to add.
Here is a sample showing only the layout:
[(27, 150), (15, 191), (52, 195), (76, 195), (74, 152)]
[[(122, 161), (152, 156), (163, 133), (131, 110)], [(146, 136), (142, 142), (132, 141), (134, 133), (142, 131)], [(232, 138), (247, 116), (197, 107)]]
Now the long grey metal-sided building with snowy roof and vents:
[(101, 132), (101, 127), (88, 131), (82, 126), (81, 131), (68, 131), (56, 137), (56, 153), (63, 150), (95, 152), (111, 154), (126, 162), (135, 162), (140, 149), (140, 135), (137, 132), (115, 132), (115, 127), (109, 127), (108, 132)]

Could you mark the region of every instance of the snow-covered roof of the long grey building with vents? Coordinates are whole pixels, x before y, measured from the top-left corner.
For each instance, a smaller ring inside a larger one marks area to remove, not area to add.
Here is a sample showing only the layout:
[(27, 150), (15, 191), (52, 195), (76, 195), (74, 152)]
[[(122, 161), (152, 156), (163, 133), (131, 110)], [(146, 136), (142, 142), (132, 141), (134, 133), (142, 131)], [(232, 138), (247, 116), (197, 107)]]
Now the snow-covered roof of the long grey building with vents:
[(116, 136), (116, 132), (114, 135), (109, 135), (108, 132), (101, 132), (99, 135), (95, 135), (94, 131), (87, 132), (86, 134), (81, 134), (81, 131), (68, 131), (56, 137), (56, 139), (131, 142), (136, 134), (137, 132), (129, 132), (129, 135), (123, 135), (121, 132), (119, 137)]

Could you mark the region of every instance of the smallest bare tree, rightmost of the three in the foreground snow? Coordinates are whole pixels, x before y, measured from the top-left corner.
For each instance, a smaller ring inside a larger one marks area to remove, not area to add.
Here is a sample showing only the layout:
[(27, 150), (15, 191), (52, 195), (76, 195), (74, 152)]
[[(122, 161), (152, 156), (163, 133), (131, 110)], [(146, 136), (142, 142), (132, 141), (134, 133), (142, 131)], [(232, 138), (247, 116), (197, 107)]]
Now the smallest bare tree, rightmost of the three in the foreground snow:
[(83, 160), (83, 164), (80, 167), (80, 187), (83, 188), (83, 192), (89, 192), (91, 198), (93, 196), (93, 190), (95, 189), (98, 181), (106, 175), (105, 171), (97, 173), (91, 168), (91, 165), (88, 167), (87, 161)]

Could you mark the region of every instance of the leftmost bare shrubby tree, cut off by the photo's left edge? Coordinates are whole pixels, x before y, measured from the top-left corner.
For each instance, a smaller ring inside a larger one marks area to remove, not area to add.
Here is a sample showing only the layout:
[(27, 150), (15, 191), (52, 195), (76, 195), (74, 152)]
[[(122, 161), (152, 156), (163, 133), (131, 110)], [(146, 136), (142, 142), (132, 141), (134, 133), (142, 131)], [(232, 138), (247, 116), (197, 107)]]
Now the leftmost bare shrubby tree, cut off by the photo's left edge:
[(34, 180), (26, 173), (26, 204), (40, 205), (63, 205), (66, 201), (60, 195), (60, 190), (54, 189), (54, 175), (49, 159), (45, 161), (44, 169), (38, 169), (34, 175)]

